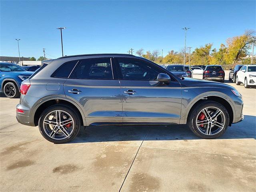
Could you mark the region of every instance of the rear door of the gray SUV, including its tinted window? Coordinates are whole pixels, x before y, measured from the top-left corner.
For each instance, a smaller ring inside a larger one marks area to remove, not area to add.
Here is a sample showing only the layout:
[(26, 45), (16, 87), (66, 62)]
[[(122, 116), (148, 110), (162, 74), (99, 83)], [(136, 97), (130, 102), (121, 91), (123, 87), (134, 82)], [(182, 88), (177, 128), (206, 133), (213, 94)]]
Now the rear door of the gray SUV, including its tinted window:
[(65, 94), (83, 107), (86, 125), (122, 122), (121, 89), (112, 58), (79, 60), (64, 84)]

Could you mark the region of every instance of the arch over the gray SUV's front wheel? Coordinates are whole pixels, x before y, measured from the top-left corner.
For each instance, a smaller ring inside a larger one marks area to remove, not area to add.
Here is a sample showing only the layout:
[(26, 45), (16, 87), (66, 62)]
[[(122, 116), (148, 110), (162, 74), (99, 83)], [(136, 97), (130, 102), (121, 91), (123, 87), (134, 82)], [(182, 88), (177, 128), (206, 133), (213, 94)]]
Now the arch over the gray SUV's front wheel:
[(192, 102), (190, 102), (189, 106), (187, 107), (186, 110), (186, 115), (184, 118), (184, 123), (187, 123), (188, 117), (190, 115), (190, 113), (192, 112), (192, 110), (194, 109), (194, 107), (199, 104), (202, 101), (215, 101), (218, 102), (220, 104), (222, 104), (227, 110), (228, 110), (228, 114), (230, 117), (229, 120), (229, 126), (231, 126), (233, 119), (235, 117), (235, 109), (234, 109), (234, 104), (232, 104), (231, 99), (229, 99), (228, 97), (222, 95), (222, 94), (207, 94), (207, 95), (202, 95), (197, 97), (196, 99), (194, 99)]

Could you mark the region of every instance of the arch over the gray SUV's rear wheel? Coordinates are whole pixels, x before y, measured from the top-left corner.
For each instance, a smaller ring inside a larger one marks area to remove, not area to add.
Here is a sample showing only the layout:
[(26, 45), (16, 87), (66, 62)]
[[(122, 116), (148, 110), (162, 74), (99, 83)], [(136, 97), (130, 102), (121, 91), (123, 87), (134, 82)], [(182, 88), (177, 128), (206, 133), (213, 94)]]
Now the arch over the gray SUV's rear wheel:
[(40, 114), (42, 114), (42, 112), (46, 108), (48, 108), (49, 106), (52, 106), (54, 104), (65, 104), (65, 105), (71, 106), (78, 113), (78, 116), (80, 117), (82, 124), (86, 125), (84, 112), (83, 112), (82, 108), (78, 104), (76, 104), (76, 102), (74, 102), (68, 98), (65, 98), (65, 97), (58, 97), (58, 98), (51, 97), (48, 99), (44, 99), (43, 101), (39, 100), (39, 102), (36, 104), (36, 106), (33, 107), (34, 110), (33, 110), (32, 114), (34, 114), (34, 115), (32, 116), (32, 122), (35, 126), (38, 125), (38, 120), (40, 118)]

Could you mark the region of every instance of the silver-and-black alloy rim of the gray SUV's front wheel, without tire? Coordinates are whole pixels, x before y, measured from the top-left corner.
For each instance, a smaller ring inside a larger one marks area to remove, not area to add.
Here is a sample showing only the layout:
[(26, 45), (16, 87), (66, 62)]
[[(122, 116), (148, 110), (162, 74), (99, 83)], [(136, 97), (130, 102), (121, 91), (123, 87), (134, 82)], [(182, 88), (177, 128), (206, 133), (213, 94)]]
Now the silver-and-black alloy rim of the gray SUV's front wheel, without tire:
[(205, 135), (215, 135), (225, 128), (225, 115), (217, 107), (206, 107), (196, 117), (198, 130)]

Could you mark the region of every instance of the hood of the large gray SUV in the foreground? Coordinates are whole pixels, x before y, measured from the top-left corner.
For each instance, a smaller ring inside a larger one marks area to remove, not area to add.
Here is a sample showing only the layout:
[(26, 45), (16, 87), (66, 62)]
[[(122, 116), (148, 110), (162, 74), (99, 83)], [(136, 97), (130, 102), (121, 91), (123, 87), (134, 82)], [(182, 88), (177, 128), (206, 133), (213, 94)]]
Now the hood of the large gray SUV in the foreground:
[(202, 79), (194, 79), (194, 78), (182, 78), (180, 80), (180, 84), (182, 87), (219, 87), (219, 88), (227, 88), (227, 89), (235, 89), (234, 87), (210, 80), (202, 80)]

